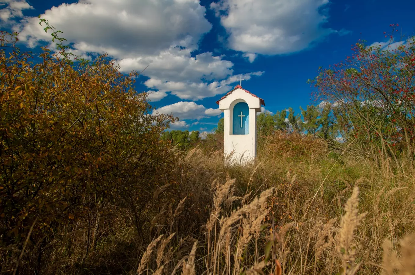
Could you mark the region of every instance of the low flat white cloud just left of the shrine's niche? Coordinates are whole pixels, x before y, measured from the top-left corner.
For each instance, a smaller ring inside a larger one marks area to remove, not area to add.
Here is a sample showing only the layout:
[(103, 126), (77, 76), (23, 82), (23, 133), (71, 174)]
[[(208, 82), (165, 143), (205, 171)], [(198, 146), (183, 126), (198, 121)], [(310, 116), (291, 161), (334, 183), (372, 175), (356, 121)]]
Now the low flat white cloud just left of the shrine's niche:
[(179, 101), (171, 105), (160, 107), (153, 111), (153, 114), (170, 114), (180, 119), (202, 119), (222, 113), (219, 109), (206, 109), (203, 105), (198, 105), (193, 101)]

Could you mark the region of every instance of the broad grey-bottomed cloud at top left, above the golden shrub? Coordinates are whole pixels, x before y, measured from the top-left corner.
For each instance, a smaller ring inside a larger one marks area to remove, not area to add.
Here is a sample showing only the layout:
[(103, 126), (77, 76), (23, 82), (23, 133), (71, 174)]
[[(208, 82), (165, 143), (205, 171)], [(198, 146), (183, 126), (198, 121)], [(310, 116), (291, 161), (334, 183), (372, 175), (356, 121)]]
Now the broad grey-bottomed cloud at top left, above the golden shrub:
[[(205, 11), (195, 0), (82, 0), (52, 7), (41, 17), (79, 49), (127, 57), (155, 54), (171, 45), (197, 47), (212, 27)], [(50, 40), (37, 17), (22, 21), (21, 41)]]

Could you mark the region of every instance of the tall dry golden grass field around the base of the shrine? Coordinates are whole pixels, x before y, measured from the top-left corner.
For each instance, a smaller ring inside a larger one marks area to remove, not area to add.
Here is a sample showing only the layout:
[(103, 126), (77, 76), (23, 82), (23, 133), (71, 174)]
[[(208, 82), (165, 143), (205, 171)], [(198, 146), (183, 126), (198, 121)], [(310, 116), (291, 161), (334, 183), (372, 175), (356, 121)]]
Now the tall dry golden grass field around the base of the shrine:
[(95, 250), (85, 255), (87, 232), (66, 232), (66, 243), (49, 244), (43, 273), (415, 274), (411, 167), (393, 173), (300, 135), (274, 135), (258, 149), (247, 167), (191, 150), (154, 188), (144, 239), (131, 213), (112, 209)]

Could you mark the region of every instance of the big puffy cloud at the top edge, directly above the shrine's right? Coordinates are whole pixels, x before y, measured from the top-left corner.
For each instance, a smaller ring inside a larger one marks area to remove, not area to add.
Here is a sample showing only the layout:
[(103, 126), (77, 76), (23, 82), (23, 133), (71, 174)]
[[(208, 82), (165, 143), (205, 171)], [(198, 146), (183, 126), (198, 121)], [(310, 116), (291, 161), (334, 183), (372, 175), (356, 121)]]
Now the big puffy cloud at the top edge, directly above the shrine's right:
[(330, 33), (329, 0), (220, 0), (212, 3), (230, 36), (231, 49), (258, 54), (288, 54), (306, 49)]

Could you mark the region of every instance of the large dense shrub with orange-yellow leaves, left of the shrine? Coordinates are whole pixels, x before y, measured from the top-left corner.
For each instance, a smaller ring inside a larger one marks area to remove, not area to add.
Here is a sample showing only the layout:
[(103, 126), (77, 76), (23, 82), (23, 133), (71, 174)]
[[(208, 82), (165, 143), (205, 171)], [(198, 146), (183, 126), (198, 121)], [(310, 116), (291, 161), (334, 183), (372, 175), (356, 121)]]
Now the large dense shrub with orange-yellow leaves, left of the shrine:
[(17, 41), (17, 33), (1, 33), (1, 261), (39, 272), (48, 248), (71, 256), (78, 231), (86, 232), (88, 254), (115, 207), (128, 209), (144, 238), (143, 211), (174, 166), (159, 140), (174, 118), (152, 115), (146, 94), (132, 86), (137, 73), (123, 76), (106, 55), (74, 64), (63, 48), (52, 56), (42, 47), (36, 56)]

